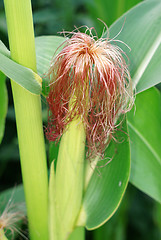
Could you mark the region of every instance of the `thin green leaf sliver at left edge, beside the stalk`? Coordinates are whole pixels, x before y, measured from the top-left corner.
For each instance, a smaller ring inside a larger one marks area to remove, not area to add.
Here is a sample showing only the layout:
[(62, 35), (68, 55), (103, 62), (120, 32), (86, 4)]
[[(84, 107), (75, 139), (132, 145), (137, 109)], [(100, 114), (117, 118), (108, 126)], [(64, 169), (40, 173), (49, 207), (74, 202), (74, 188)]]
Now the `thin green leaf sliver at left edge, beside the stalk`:
[(5, 119), (8, 108), (8, 95), (5, 79), (5, 75), (0, 72), (0, 143), (2, 142), (4, 135)]

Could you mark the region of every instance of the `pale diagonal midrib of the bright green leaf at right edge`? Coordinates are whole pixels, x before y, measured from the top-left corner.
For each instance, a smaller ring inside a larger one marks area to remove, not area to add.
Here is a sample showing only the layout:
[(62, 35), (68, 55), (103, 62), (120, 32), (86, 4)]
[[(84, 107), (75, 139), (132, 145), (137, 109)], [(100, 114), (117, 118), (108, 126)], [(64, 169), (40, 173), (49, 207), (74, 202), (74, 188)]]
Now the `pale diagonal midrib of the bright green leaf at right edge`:
[(143, 141), (143, 143), (147, 146), (147, 148), (151, 151), (155, 159), (158, 161), (158, 163), (161, 165), (161, 158), (157, 154), (157, 152), (154, 150), (154, 148), (150, 145), (150, 143), (144, 138), (144, 136), (129, 122), (127, 121), (128, 126), (138, 135), (138, 137)]

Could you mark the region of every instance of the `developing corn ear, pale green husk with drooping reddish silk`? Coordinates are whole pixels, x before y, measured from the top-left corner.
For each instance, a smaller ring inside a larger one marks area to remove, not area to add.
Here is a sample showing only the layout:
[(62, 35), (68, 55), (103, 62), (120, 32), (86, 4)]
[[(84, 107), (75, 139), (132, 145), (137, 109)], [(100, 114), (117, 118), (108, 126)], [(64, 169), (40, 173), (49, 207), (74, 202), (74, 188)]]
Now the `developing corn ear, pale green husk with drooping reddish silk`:
[(48, 72), (46, 135), (50, 141), (61, 138), (55, 183), (59, 239), (67, 239), (80, 211), (85, 156), (103, 158), (119, 115), (133, 102), (123, 51), (89, 32), (72, 32)]

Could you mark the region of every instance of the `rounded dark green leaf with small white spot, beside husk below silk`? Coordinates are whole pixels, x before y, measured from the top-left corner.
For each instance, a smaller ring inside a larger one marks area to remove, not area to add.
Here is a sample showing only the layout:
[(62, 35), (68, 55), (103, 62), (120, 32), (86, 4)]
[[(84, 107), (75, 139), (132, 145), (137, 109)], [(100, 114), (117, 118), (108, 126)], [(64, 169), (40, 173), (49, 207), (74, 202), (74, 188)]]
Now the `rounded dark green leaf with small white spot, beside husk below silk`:
[[(117, 141), (111, 141), (104, 161), (98, 162), (84, 195), (80, 222), (81, 219), (85, 221), (85, 226), (90, 230), (105, 223), (115, 213), (127, 187), (130, 149), (128, 136), (125, 134), (126, 121), (120, 128), (116, 133)], [(105, 165), (110, 158), (111, 162)]]

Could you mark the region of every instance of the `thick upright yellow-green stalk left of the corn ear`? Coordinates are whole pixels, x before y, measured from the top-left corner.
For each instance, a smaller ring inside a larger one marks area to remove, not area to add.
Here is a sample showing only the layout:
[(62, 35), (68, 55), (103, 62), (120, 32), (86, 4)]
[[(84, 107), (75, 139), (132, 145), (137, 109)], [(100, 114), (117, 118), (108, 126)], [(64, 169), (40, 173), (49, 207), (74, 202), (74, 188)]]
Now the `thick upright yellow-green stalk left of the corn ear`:
[[(36, 72), (30, 0), (4, 0), (11, 57)], [(31, 240), (48, 239), (48, 179), (40, 96), (13, 81), (22, 176)]]

